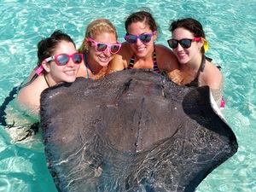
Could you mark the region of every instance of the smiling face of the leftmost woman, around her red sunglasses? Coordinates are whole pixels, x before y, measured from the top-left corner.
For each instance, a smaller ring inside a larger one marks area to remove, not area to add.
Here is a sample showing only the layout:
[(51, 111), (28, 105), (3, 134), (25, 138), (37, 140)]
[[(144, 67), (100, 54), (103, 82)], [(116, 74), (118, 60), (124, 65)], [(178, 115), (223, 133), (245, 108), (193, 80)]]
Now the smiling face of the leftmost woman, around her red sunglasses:
[[(73, 43), (67, 41), (61, 41), (56, 47), (53, 55), (67, 54), (73, 55), (77, 53), (77, 50)], [(46, 69), (49, 72), (50, 78), (55, 82), (55, 84), (61, 82), (72, 83), (76, 79), (76, 74), (79, 71), (80, 64), (75, 64), (72, 58), (69, 58), (67, 65), (58, 66), (56, 61), (49, 61)]]

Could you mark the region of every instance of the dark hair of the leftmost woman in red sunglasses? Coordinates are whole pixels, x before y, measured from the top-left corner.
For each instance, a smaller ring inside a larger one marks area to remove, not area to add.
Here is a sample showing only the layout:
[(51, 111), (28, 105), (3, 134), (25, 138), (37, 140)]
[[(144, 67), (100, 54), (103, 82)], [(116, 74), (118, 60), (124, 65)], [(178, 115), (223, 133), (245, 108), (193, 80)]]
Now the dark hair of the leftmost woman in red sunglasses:
[[(73, 39), (60, 30), (53, 32), (49, 38), (43, 38), (38, 43), (38, 66), (41, 65), (44, 59), (53, 55), (53, 52), (61, 41), (73, 43)], [(74, 43), (73, 45), (75, 46)]]

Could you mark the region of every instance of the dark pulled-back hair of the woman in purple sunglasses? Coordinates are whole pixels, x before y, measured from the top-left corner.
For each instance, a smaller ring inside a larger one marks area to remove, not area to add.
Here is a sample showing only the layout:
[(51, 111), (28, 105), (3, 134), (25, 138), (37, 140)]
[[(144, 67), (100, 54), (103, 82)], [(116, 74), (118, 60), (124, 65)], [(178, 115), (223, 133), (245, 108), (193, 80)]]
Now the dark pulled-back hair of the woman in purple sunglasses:
[(154, 17), (148, 12), (148, 11), (138, 11), (133, 14), (131, 14), (126, 20), (125, 20), (125, 30), (128, 32), (128, 26), (131, 25), (131, 23), (135, 22), (145, 22), (149, 28), (154, 31), (158, 31), (159, 26), (154, 20)]

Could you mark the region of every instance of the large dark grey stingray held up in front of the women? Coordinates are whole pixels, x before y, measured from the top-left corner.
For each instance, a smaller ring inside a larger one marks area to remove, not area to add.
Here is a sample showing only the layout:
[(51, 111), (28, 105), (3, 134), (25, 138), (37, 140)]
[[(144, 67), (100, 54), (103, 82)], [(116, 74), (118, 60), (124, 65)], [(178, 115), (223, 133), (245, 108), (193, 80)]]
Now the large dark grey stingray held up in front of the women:
[(151, 70), (78, 78), (41, 95), (45, 155), (59, 191), (194, 191), (236, 154), (208, 86)]

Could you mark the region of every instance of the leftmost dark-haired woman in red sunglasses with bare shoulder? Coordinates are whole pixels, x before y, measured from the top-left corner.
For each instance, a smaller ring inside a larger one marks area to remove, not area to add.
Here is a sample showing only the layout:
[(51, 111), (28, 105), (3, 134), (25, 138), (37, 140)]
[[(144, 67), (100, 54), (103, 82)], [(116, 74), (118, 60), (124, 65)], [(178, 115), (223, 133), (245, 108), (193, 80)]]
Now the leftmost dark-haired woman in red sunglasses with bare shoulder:
[(36, 74), (21, 86), (15, 104), (38, 119), (42, 91), (61, 82), (72, 83), (82, 61), (83, 55), (77, 53), (73, 39), (61, 31), (53, 32), (38, 43)]

